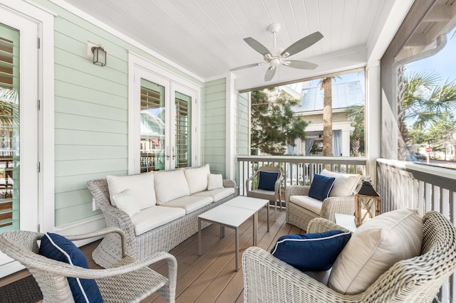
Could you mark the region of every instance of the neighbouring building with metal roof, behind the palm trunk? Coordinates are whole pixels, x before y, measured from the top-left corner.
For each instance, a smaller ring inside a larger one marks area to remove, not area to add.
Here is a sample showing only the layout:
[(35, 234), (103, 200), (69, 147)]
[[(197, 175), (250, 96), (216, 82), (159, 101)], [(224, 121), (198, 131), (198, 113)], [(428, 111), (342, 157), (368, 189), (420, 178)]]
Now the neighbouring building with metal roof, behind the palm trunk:
[[(299, 87), (293, 88), (296, 90)], [(296, 115), (309, 123), (306, 127), (306, 141), (296, 139), (296, 146), (289, 146), (289, 154), (311, 156), (319, 154), (315, 149), (323, 147), (323, 90), (319, 86), (311, 87), (311, 83), (308, 82), (302, 85), (301, 91), (301, 104), (293, 107), (293, 110)], [(364, 92), (360, 81), (334, 83), (332, 96), (333, 156), (350, 156), (350, 133), (354, 127), (348, 119), (347, 108), (353, 105), (364, 105)]]

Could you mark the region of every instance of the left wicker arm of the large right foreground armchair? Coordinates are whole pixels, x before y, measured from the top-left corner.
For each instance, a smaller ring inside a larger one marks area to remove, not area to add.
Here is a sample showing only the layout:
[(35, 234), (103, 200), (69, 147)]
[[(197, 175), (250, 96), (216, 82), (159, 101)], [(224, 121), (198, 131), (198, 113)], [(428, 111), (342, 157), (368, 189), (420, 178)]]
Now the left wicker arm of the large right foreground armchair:
[(244, 302), (361, 302), (359, 295), (338, 294), (255, 246), (245, 250), (242, 270)]

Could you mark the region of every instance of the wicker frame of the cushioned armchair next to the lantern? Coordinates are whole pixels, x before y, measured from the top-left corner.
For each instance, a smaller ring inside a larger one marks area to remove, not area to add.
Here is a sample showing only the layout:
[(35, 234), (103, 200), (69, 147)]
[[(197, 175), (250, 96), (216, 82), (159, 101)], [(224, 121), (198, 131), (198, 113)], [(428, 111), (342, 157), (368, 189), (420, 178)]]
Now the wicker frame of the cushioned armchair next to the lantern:
[(293, 185), (285, 190), (286, 223), (306, 230), (309, 222), (314, 218), (326, 218), (336, 222), (336, 213), (353, 215), (355, 212), (355, 197), (328, 197), (321, 204), (320, 213), (314, 213), (307, 208), (290, 201), (291, 196), (307, 196), (310, 186)]

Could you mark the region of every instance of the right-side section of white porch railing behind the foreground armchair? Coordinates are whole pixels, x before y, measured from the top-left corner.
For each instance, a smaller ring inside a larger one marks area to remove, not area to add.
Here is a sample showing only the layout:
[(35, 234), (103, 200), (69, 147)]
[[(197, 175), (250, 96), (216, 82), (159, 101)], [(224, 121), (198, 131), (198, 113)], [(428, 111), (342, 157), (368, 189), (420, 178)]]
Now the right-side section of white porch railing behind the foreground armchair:
[[(382, 213), (416, 208), (421, 214), (438, 211), (456, 223), (456, 170), (389, 159), (377, 160), (377, 191), (382, 196)], [(442, 285), (440, 302), (456, 299), (456, 277)]]

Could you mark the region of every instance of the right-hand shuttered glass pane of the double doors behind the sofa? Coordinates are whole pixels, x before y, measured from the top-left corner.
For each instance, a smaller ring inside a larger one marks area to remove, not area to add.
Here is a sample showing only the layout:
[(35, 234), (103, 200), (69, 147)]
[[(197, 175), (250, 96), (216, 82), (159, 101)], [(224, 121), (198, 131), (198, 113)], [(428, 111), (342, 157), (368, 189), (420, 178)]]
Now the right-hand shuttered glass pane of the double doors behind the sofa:
[(190, 114), (192, 112), (192, 97), (176, 92), (176, 144), (175, 144), (175, 166), (188, 167), (191, 166), (191, 144), (190, 129), (192, 121)]

